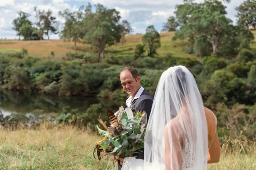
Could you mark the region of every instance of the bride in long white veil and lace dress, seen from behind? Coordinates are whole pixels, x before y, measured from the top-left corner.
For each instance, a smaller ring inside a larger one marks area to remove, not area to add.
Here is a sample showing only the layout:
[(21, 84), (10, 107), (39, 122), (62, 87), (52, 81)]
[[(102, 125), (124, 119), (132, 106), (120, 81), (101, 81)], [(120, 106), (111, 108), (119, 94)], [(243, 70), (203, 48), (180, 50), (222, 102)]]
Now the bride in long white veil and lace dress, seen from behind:
[(128, 157), (122, 170), (206, 170), (220, 159), (217, 119), (203, 106), (185, 66), (162, 73), (146, 128), (144, 160)]

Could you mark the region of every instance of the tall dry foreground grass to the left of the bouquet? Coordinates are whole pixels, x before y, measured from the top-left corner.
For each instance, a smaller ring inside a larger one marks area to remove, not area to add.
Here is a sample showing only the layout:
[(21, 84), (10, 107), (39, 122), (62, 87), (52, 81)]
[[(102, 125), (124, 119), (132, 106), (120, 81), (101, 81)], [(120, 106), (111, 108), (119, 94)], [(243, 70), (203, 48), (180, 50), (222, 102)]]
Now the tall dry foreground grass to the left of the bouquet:
[[(100, 170), (111, 162), (93, 158), (99, 137), (90, 129), (44, 123), (35, 130), (1, 130), (0, 170)], [(108, 167), (108, 168), (107, 168)]]

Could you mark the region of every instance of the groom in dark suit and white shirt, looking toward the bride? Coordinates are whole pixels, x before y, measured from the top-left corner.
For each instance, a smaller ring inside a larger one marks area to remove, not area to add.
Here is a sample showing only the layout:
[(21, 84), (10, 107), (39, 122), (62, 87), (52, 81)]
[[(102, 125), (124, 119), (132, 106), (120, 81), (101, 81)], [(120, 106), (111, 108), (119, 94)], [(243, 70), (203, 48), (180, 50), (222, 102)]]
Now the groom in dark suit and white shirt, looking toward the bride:
[[(135, 111), (146, 111), (149, 118), (153, 104), (153, 96), (144, 90), (140, 84), (140, 76), (136, 68), (125, 67), (120, 72), (120, 81), (124, 91), (130, 95), (126, 100), (126, 107), (133, 107)], [(148, 121), (148, 119), (147, 119)], [(144, 149), (142, 152), (134, 154), (137, 159), (144, 159)], [(124, 158), (118, 160), (118, 170), (121, 170)]]

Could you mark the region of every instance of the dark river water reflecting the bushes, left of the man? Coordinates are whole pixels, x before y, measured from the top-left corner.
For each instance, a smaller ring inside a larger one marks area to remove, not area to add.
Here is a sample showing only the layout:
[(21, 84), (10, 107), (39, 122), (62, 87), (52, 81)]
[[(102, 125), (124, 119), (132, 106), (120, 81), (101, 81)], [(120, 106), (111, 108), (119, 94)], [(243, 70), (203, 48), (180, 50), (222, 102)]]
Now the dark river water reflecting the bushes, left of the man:
[(46, 96), (29, 92), (0, 90), (0, 111), (4, 116), (11, 113), (29, 114), (36, 109), (43, 110), (44, 113), (52, 113), (62, 110), (64, 106), (70, 106), (70, 108), (78, 109), (78, 112), (83, 113), (91, 104), (98, 103), (103, 105), (104, 110), (111, 108), (116, 111), (119, 106), (125, 104), (125, 101), (110, 101), (81, 96)]

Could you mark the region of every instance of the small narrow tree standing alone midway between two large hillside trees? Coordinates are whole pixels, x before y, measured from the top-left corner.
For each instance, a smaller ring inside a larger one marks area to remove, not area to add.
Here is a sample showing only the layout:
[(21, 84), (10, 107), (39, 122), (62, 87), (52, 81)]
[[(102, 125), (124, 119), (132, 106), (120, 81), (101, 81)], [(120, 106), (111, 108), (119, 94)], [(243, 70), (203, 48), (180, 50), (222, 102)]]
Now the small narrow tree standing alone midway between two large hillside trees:
[(150, 25), (146, 29), (146, 34), (142, 37), (142, 41), (148, 51), (148, 56), (154, 57), (156, 49), (161, 47), (160, 35), (154, 28), (154, 25)]

